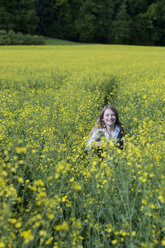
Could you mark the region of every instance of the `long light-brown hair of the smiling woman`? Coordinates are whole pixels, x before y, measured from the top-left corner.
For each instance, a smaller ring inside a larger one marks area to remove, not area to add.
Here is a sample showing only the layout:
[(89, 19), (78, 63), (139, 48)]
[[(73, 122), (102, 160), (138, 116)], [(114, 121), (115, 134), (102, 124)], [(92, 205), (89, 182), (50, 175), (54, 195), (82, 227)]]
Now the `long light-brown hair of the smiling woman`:
[(116, 116), (115, 126), (119, 126), (121, 132), (122, 132), (123, 134), (125, 134), (124, 127), (123, 127), (123, 125), (121, 124), (121, 122), (119, 121), (119, 114), (118, 114), (118, 111), (117, 111), (117, 109), (116, 109), (113, 105), (106, 105), (106, 106), (101, 110), (100, 115), (99, 115), (99, 117), (98, 117), (98, 119), (97, 119), (97, 121), (96, 121), (96, 123), (95, 123), (95, 125), (94, 125), (94, 128), (93, 128), (92, 131), (91, 131), (91, 134), (92, 134), (94, 131), (96, 131), (98, 128), (100, 128), (100, 127), (101, 127), (101, 128), (106, 128), (106, 125), (105, 125), (105, 123), (104, 123), (104, 121), (103, 121), (103, 118), (104, 118), (104, 112), (105, 112), (105, 110), (107, 110), (107, 109), (111, 109), (111, 110), (114, 112), (114, 114), (115, 114), (115, 116)]

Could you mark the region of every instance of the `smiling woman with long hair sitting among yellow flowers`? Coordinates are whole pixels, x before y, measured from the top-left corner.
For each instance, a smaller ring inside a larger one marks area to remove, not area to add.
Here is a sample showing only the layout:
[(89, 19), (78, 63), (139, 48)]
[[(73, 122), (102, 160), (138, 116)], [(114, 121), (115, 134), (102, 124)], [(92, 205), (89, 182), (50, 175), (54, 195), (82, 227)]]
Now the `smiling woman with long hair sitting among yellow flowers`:
[(102, 137), (105, 137), (107, 140), (114, 140), (116, 146), (123, 149), (122, 137), (124, 134), (124, 128), (119, 121), (117, 109), (112, 105), (107, 105), (102, 109), (91, 131), (91, 137), (87, 143), (87, 150), (91, 150), (92, 145), (100, 148), (103, 144), (101, 141)]

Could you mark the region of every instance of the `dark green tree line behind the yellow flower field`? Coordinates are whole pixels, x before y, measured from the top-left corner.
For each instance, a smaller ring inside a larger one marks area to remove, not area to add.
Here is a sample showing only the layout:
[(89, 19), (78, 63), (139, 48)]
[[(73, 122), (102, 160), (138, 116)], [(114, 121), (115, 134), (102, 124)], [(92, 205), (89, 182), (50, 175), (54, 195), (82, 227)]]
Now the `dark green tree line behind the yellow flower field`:
[(165, 45), (164, 0), (0, 0), (0, 29), (108, 44)]

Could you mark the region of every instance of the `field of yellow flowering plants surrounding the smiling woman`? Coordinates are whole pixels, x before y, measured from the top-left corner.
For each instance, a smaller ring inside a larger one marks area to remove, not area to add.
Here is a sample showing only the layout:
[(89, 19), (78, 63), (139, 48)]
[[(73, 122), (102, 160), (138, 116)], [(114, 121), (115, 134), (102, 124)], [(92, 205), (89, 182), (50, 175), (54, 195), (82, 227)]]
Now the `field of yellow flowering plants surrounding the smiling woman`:
[[(0, 248), (165, 247), (163, 47), (0, 48)], [(102, 107), (124, 150), (86, 151)]]

